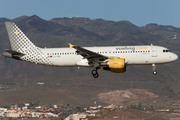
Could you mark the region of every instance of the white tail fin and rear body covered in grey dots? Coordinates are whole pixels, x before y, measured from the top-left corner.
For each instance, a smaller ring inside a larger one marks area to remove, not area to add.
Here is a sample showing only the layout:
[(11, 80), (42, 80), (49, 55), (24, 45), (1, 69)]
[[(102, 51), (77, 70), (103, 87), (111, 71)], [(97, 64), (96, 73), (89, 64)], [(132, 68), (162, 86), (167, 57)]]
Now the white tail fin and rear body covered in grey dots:
[[(18, 59), (36, 64), (52, 65), (42, 49), (35, 46), (13, 22), (5, 22), (12, 50), (8, 50), (10, 57), (20, 54)], [(7, 50), (6, 50), (7, 51)], [(12, 55), (13, 54), (13, 55)], [(7, 55), (6, 55), (7, 56)]]

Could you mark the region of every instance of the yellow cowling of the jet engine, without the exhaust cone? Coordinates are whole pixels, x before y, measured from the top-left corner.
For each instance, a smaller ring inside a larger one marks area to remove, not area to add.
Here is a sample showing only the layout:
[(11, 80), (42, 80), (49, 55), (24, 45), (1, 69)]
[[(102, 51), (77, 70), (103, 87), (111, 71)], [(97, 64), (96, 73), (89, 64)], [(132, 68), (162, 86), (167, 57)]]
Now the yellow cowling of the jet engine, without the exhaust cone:
[(114, 73), (124, 73), (126, 72), (125, 59), (124, 58), (115, 58), (108, 59), (109, 68), (111, 72)]

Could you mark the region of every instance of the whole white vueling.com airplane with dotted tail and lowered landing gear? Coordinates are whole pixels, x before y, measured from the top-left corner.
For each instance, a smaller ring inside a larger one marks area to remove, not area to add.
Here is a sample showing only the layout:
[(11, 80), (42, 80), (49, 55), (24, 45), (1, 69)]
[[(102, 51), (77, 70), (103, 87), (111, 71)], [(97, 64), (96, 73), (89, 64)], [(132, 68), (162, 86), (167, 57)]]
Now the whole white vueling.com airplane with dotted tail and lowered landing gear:
[(98, 78), (98, 69), (124, 73), (129, 65), (152, 65), (176, 61), (178, 56), (162, 46), (104, 46), (80, 47), (69, 43), (69, 48), (39, 48), (13, 22), (5, 22), (12, 50), (5, 49), (2, 56), (35, 64), (66, 67), (92, 67)]

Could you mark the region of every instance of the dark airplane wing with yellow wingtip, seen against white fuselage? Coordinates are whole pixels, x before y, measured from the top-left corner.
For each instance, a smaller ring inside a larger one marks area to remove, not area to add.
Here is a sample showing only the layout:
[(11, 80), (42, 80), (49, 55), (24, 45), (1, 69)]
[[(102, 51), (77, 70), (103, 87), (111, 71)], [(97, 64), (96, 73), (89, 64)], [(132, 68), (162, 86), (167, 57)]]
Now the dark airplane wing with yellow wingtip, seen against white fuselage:
[(89, 61), (104, 61), (108, 59), (107, 56), (104, 56), (102, 54), (98, 54), (96, 52), (90, 51), (88, 49), (82, 48), (80, 46), (72, 45), (69, 43), (70, 48), (76, 49), (76, 53), (78, 55), (83, 56), (84, 58), (88, 59)]

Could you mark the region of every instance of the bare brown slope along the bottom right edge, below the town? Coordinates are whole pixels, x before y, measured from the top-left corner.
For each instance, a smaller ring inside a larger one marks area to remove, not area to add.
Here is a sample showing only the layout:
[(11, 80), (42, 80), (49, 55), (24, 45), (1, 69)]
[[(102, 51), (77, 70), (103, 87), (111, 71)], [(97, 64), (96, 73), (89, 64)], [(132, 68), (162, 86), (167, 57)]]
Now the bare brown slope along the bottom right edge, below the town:
[(137, 109), (104, 109), (93, 120), (178, 120), (178, 113), (163, 113), (155, 111), (140, 111)]

